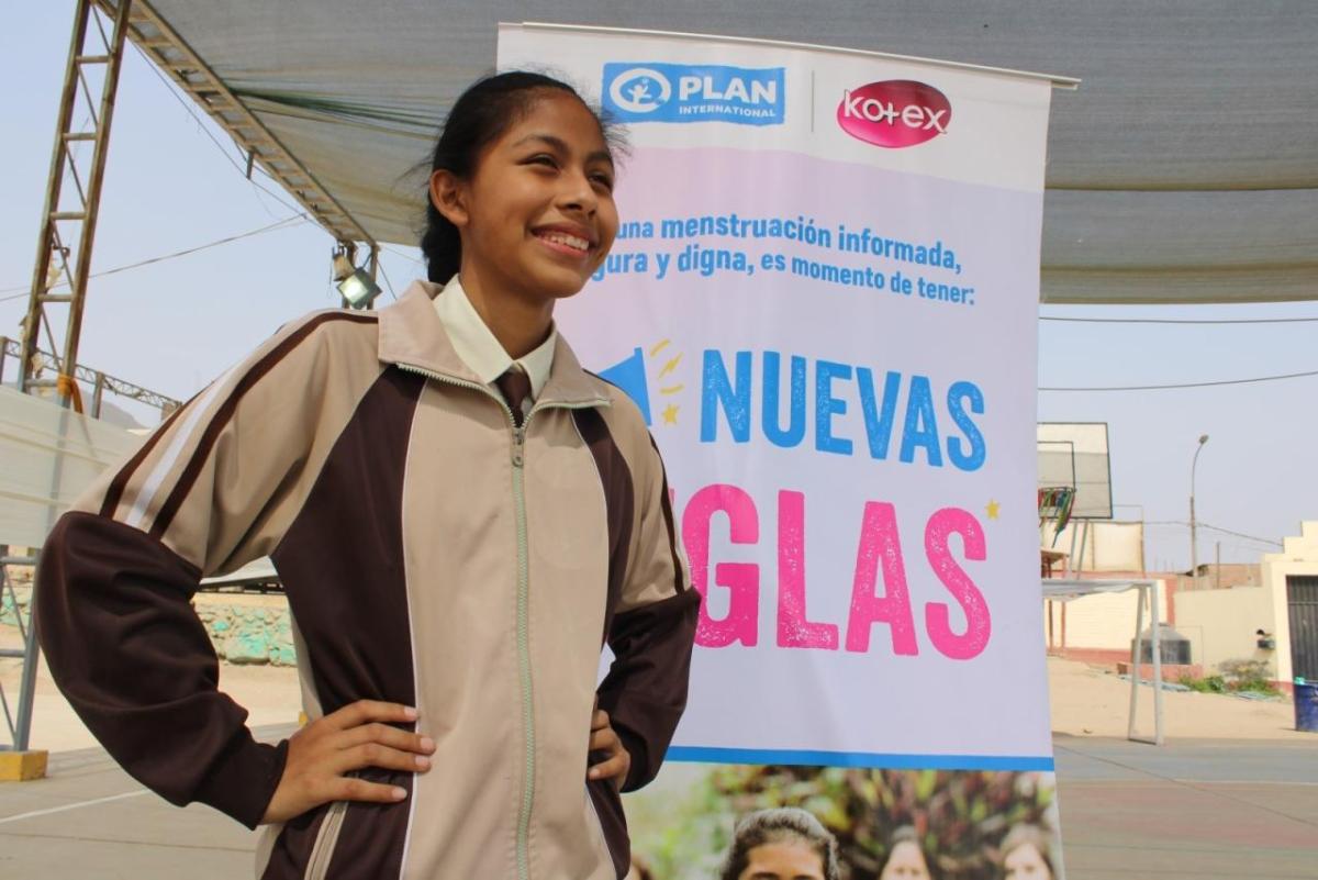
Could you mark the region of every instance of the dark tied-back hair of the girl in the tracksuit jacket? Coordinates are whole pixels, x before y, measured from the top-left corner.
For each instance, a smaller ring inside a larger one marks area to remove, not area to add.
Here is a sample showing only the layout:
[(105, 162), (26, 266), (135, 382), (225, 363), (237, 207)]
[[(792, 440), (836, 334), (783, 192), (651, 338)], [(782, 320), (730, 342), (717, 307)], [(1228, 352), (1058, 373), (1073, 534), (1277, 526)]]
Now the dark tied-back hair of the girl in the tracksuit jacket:
[[(567, 83), (529, 71), (507, 71), (478, 79), (467, 87), (444, 121), (444, 130), (435, 142), (430, 171), (451, 171), (460, 179), (471, 179), (481, 150), (500, 138), (521, 115), (530, 111), (536, 92), (558, 91), (572, 95), (594, 113), (600, 132), (608, 141), (608, 124)], [(427, 175), (428, 178), (428, 175)], [(420, 252), (426, 258), (426, 277), (443, 285), (455, 274), (463, 261), (463, 242), (457, 227), (448, 221), (426, 192), (426, 232), (420, 238)]]

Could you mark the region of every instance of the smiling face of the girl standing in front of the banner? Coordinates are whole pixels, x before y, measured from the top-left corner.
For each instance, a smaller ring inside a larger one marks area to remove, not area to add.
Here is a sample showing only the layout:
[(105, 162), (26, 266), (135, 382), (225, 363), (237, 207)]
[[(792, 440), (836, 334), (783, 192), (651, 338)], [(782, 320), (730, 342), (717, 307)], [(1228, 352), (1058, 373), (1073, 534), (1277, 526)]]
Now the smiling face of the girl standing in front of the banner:
[(613, 159), (594, 115), (542, 91), (481, 151), (469, 180), (431, 177), (431, 199), (463, 237), (463, 278), (534, 303), (571, 296), (618, 232)]

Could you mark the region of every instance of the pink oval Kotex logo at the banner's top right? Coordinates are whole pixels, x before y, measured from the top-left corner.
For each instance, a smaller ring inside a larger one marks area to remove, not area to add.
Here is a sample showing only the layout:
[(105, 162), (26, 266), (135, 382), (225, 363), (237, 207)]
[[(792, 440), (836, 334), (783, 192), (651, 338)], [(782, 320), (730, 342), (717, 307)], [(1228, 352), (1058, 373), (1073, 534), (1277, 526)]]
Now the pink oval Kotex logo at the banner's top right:
[(900, 149), (948, 133), (952, 104), (933, 86), (890, 79), (842, 92), (837, 124), (851, 137)]

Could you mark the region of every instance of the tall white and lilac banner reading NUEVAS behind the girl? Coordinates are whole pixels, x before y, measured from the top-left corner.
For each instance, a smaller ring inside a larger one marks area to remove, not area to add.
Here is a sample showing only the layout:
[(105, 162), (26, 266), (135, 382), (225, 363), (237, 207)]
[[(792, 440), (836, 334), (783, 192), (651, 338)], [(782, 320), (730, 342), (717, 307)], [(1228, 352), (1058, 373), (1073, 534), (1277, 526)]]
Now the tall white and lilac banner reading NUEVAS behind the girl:
[(498, 62), (580, 87), (630, 142), (613, 253), (558, 319), (650, 422), (705, 595), (670, 764), (627, 800), (638, 871), (717, 876), (778, 822), (853, 880), (1061, 877), (1049, 80), (535, 25), (503, 26)]

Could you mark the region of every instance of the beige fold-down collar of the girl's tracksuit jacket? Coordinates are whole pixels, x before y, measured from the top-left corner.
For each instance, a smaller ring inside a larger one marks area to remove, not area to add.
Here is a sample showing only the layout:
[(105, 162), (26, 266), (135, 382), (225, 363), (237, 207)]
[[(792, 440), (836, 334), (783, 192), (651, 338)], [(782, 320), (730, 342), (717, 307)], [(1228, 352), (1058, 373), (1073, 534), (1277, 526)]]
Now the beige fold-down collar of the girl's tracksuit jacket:
[[(432, 300), (442, 290), (442, 285), (414, 281), (397, 303), (380, 310), (380, 360), (469, 385), (484, 385), (457, 357), (453, 343), (435, 314)], [(536, 399), (536, 406), (543, 404), (609, 406), (609, 398), (581, 369), (561, 333), (554, 348), (550, 379)]]

